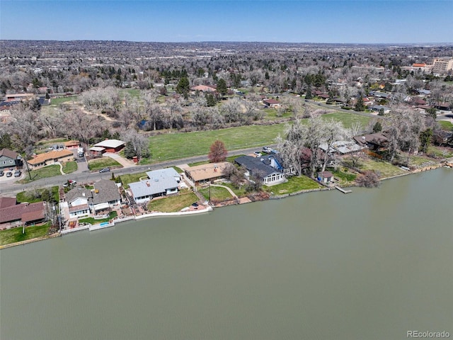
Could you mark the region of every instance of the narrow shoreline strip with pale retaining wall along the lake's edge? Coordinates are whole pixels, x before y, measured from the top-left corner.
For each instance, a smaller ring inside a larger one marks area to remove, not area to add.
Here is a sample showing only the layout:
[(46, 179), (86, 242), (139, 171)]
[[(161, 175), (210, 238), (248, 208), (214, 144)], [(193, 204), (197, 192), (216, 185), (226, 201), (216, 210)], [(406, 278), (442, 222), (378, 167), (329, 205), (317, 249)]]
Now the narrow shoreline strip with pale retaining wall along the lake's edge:
[[(439, 169), (439, 168), (442, 168), (442, 167), (445, 167), (445, 166), (443, 164), (433, 164), (432, 166), (427, 166), (427, 167), (422, 168), (422, 169), (416, 169), (416, 170), (413, 170), (413, 171), (408, 171), (406, 174), (399, 174), (399, 175), (396, 175), (396, 176), (386, 177), (384, 179), (380, 179), (379, 182), (380, 181), (386, 181), (386, 180), (389, 180), (389, 179), (396, 179), (398, 177), (408, 176), (408, 175), (411, 175), (411, 174), (418, 174), (420, 172), (436, 170), (436, 169)], [(357, 188), (357, 186), (346, 186), (345, 188)], [(333, 187), (333, 188), (324, 187), (324, 188), (316, 188), (316, 189), (307, 189), (307, 190), (297, 191), (297, 192), (294, 192), (294, 193), (287, 193), (287, 194), (284, 194), (284, 195), (275, 195), (275, 196), (270, 196), (268, 198), (268, 200), (280, 200), (282, 198), (287, 198), (287, 197), (291, 197), (291, 196), (297, 196), (297, 195), (301, 195), (301, 194), (304, 194), (304, 193), (313, 193), (313, 192), (318, 192), (318, 191), (331, 191), (331, 189), (335, 189), (335, 187)], [(239, 204), (246, 204), (246, 203), (253, 203), (253, 201), (247, 201), (247, 202), (244, 202), (244, 203), (227, 204), (227, 205), (216, 205), (214, 208), (222, 208), (224, 206), (239, 205)], [(74, 229), (63, 229), (63, 230), (61, 230), (61, 231), (59, 231), (59, 232), (57, 232), (55, 234), (50, 234), (50, 235), (47, 235), (47, 236), (44, 236), (44, 237), (38, 237), (38, 238), (35, 238), (35, 239), (27, 239), (27, 240), (21, 241), (21, 242), (5, 244), (3, 246), (0, 246), (0, 250), (1, 249), (11, 248), (12, 246), (23, 246), (25, 244), (29, 244), (29, 243), (32, 243), (32, 242), (38, 242), (38, 241), (42, 241), (42, 240), (45, 240), (45, 239), (53, 239), (55, 237), (62, 237), (63, 235), (71, 234), (73, 232), (79, 232), (79, 231), (82, 231), (82, 230), (88, 230), (88, 231), (91, 232), (91, 231), (105, 229), (105, 228), (108, 228), (108, 227), (115, 227), (116, 223), (121, 223), (121, 222), (127, 222), (127, 221), (133, 221), (133, 220), (142, 220), (144, 218), (150, 218), (150, 217), (174, 217), (174, 216), (197, 215), (197, 214), (203, 214), (203, 213), (211, 212), (211, 211), (214, 210), (214, 208), (211, 205), (208, 205), (207, 208), (202, 209), (202, 210), (178, 211), (178, 212), (149, 212), (149, 213), (142, 214), (142, 215), (133, 215), (133, 216), (130, 216), (130, 217), (117, 218), (117, 219), (112, 220), (112, 222), (108, 222), (105, 225), (101, 225), (101, 224), (89, 225), (88, 224), (88, 225), (84, 225), (82, 227), (77, 227), (77, 228), (74, 228)]]

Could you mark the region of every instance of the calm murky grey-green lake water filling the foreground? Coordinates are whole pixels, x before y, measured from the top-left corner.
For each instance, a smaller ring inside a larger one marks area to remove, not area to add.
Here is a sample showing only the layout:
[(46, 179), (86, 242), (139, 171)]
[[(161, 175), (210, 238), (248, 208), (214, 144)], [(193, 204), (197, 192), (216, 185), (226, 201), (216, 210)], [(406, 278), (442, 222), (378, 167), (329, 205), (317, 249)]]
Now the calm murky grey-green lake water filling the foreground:
[(453, 336), (453, 170), (0, 251), (0, 339)]

